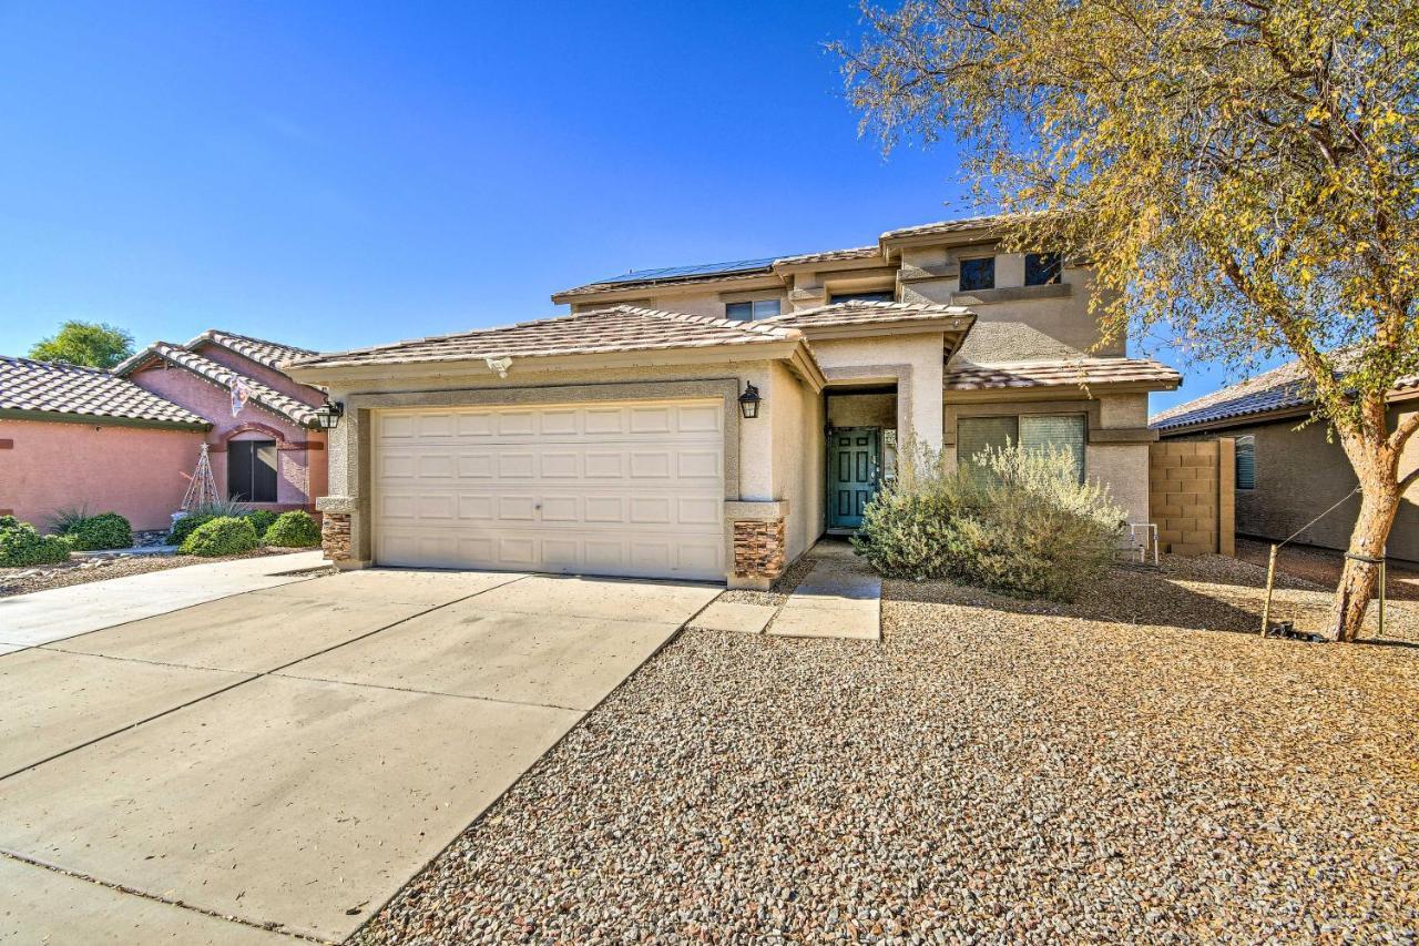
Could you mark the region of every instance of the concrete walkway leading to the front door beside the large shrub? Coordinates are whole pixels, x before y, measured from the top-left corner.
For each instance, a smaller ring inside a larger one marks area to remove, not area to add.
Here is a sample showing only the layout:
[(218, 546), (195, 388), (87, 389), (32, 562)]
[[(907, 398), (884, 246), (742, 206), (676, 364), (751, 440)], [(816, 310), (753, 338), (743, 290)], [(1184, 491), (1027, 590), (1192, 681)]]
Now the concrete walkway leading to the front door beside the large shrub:
[(769, 634), (881, 641), (881, 577), (841, 541), (820, 541), (809, 554), (817, 564), (779, 609)]

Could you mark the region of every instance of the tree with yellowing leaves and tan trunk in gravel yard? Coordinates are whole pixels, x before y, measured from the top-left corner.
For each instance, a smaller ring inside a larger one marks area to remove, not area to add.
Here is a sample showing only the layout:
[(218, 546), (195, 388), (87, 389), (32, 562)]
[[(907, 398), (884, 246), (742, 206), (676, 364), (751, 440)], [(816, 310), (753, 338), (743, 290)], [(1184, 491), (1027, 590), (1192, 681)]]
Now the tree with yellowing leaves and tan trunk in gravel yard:
[(1090, 261), (1104, 341), (1162, 328), (1250, 369), (1294, 357), (1359, 479), (1335, 592), (1374, 595), (1419, 412), (1415, 0), (911, 0), (839, 45), (885, 146), (962, 142), (1015, 247)]

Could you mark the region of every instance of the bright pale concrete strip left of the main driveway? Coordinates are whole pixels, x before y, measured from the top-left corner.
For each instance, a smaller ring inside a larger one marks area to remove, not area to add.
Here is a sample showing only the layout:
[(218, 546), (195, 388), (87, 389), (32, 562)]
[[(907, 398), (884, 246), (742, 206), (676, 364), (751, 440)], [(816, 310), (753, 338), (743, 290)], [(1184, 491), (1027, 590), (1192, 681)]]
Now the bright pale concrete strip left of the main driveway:
[(0, 653), (62, 641), (217, 598), (274, 588), (325, 565), (319, 551), (236, 558), (0, 598)]

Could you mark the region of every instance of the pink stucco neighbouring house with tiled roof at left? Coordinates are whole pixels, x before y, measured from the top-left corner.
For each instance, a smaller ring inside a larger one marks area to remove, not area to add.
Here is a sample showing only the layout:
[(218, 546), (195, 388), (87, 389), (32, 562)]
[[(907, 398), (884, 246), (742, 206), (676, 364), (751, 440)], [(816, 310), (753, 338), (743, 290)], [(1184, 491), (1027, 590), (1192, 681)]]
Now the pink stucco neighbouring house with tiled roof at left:
[(280, 369), (314, 354), (213, 330), (155, 342), (112, 372), (0, 358), (0, 509), (43, 527), (82, 506), (166, 530), (207, 443), (219, 494), (314, 510), (324, 393)]

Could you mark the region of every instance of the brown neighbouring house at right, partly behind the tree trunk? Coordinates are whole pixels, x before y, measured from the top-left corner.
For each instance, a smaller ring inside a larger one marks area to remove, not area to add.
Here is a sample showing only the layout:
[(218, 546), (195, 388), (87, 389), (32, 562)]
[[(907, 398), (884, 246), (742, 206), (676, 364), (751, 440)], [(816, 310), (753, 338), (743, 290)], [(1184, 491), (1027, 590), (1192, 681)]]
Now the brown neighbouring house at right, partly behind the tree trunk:
[[(1330, 436), (1330, 425), (1304, 423), (1314, 402), (1303, 379), (1300, 364), (1293, 361), (1169, 408), (1149, 423), (1164, 440), (1235, 442), (1237, 534), (1281, 541), (1300, 530), (1297, 543), (1344, 550), (1359, 513), (1359, 496), (1349, 496), (1358, 480), (1340, 442)], [(1402, 378), (1389, 402), (1391, 426), (1419, 409), (1419, 375)], [(1410, 442), (1401, 476), (1416, 466), (1419, 443)], [(1308, 526), (1337, 501), (1338, 507)], [(1410, 487), (1401, 504), (1389, 554), (1419, 561), (1419, 486)]]

